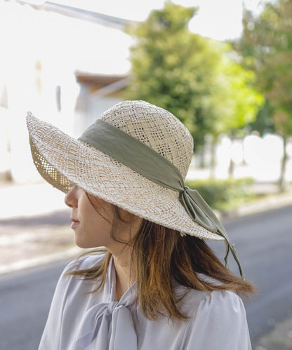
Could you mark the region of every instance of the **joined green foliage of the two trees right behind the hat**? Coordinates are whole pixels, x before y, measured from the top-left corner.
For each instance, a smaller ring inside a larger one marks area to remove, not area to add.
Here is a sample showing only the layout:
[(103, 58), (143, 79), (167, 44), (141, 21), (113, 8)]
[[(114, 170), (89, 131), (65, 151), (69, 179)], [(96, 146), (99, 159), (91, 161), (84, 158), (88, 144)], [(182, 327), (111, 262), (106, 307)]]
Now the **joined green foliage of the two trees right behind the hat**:
[(208, 133), (226, 133), (253, 121), (261, 99), (251, 87), (253, 72), (233, 62), (230, 47), (189, 31), (196, 12), (166, 3), (128, 28), (135, 45), (126, 97), (168, 109), (198, 146)]

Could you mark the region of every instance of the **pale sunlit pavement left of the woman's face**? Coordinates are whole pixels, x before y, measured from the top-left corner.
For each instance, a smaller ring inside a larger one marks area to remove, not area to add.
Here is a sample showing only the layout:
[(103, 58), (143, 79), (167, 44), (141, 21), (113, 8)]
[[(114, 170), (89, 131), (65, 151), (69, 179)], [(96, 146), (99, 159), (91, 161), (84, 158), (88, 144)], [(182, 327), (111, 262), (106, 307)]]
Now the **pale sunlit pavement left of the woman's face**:
[(77, 256), (64, 194), (44, 182), (0, 184), (0, 274)]

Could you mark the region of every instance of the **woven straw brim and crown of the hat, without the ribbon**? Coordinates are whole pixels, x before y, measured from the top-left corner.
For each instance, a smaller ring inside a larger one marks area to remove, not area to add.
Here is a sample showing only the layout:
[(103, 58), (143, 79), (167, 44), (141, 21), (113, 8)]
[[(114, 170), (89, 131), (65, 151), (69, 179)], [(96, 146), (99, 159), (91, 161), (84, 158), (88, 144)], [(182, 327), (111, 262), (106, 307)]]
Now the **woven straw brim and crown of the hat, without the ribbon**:
[[(100, 119), (164, 156), (185, 180), (193, 154), (190, 132), (173, 114), (145, 101), (124, 101)], [(27, 114), (34, 165), (44, 179), (67, 193), (74, 184), (129, 213), (165, 227), (215, 241), (222, 236), (194, 222), (179, 192), (148, 180), (91, 144)], [(142, 161), (142, 160), (141, 160)]]

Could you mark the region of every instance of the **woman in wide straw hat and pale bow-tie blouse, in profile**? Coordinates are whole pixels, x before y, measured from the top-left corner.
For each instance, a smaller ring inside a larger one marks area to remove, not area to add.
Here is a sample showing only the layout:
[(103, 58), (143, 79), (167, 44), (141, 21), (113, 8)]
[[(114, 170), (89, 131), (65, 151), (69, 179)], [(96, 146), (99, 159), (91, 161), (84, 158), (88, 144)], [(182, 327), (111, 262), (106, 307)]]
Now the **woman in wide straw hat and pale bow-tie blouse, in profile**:
[(81, 248), (58, 281), (39, 349), (251, 349), (243, 303), (251, 283), (204, 239), (225, 229), (184, 185), (192, 137), (144, 101), (104, 112), (78, 140), (27, 116), (34, 164), (66, 193)]

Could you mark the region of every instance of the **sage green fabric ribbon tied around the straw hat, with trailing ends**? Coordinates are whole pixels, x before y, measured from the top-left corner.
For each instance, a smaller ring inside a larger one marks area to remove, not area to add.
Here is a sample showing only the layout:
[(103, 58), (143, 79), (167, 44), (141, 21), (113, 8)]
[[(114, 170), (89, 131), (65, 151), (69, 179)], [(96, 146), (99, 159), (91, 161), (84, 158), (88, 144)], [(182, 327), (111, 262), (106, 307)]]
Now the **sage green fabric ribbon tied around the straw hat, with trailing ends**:
[(89, 126), (79, 137), (79, 140), (85, 141), (105, 154), (112, 156), (148, 180), (162, 187), (179, 191), (180, 202), (192, 220), (208, 229), (208, 231), (225, 238), (225, 265), (229, 268), (228, 254), (231, 251), (239, 267), (241, 277), (244, 278), (244, 272), (239, 263), (236, 250), (234, 245), (230, 243), (223, 224), (221, 224), (199, 192), (185, 186), (180, 171), (173, 163), (147, 146), (147, 144), (142, 143), (124, 132), (124, 130), (112, 126), (112, 124), (102, 119), (98, 119)]

